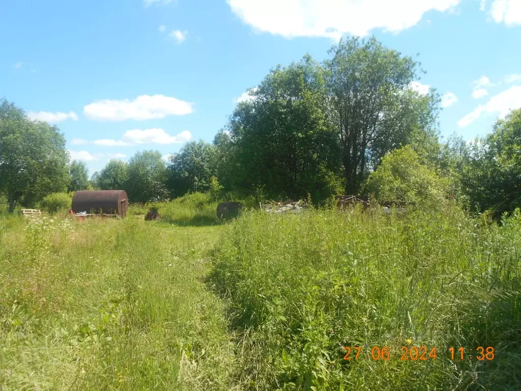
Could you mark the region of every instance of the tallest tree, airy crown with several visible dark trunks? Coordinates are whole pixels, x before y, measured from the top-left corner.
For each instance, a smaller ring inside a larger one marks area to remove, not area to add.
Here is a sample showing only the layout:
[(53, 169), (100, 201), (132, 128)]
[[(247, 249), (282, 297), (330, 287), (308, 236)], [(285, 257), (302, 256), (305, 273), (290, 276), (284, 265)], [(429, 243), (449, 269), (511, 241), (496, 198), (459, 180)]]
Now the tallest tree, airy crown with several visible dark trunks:
[(422, 141), (436, 147), (439, 97), (433, 90), (423, 96), (408, 88), (419, 64), (374, 38), (341, 40), (329, 53), (328, 113), (342, 148), (345, 193), (356, 194), (389, 151), (413, 141), (415, 149)]

